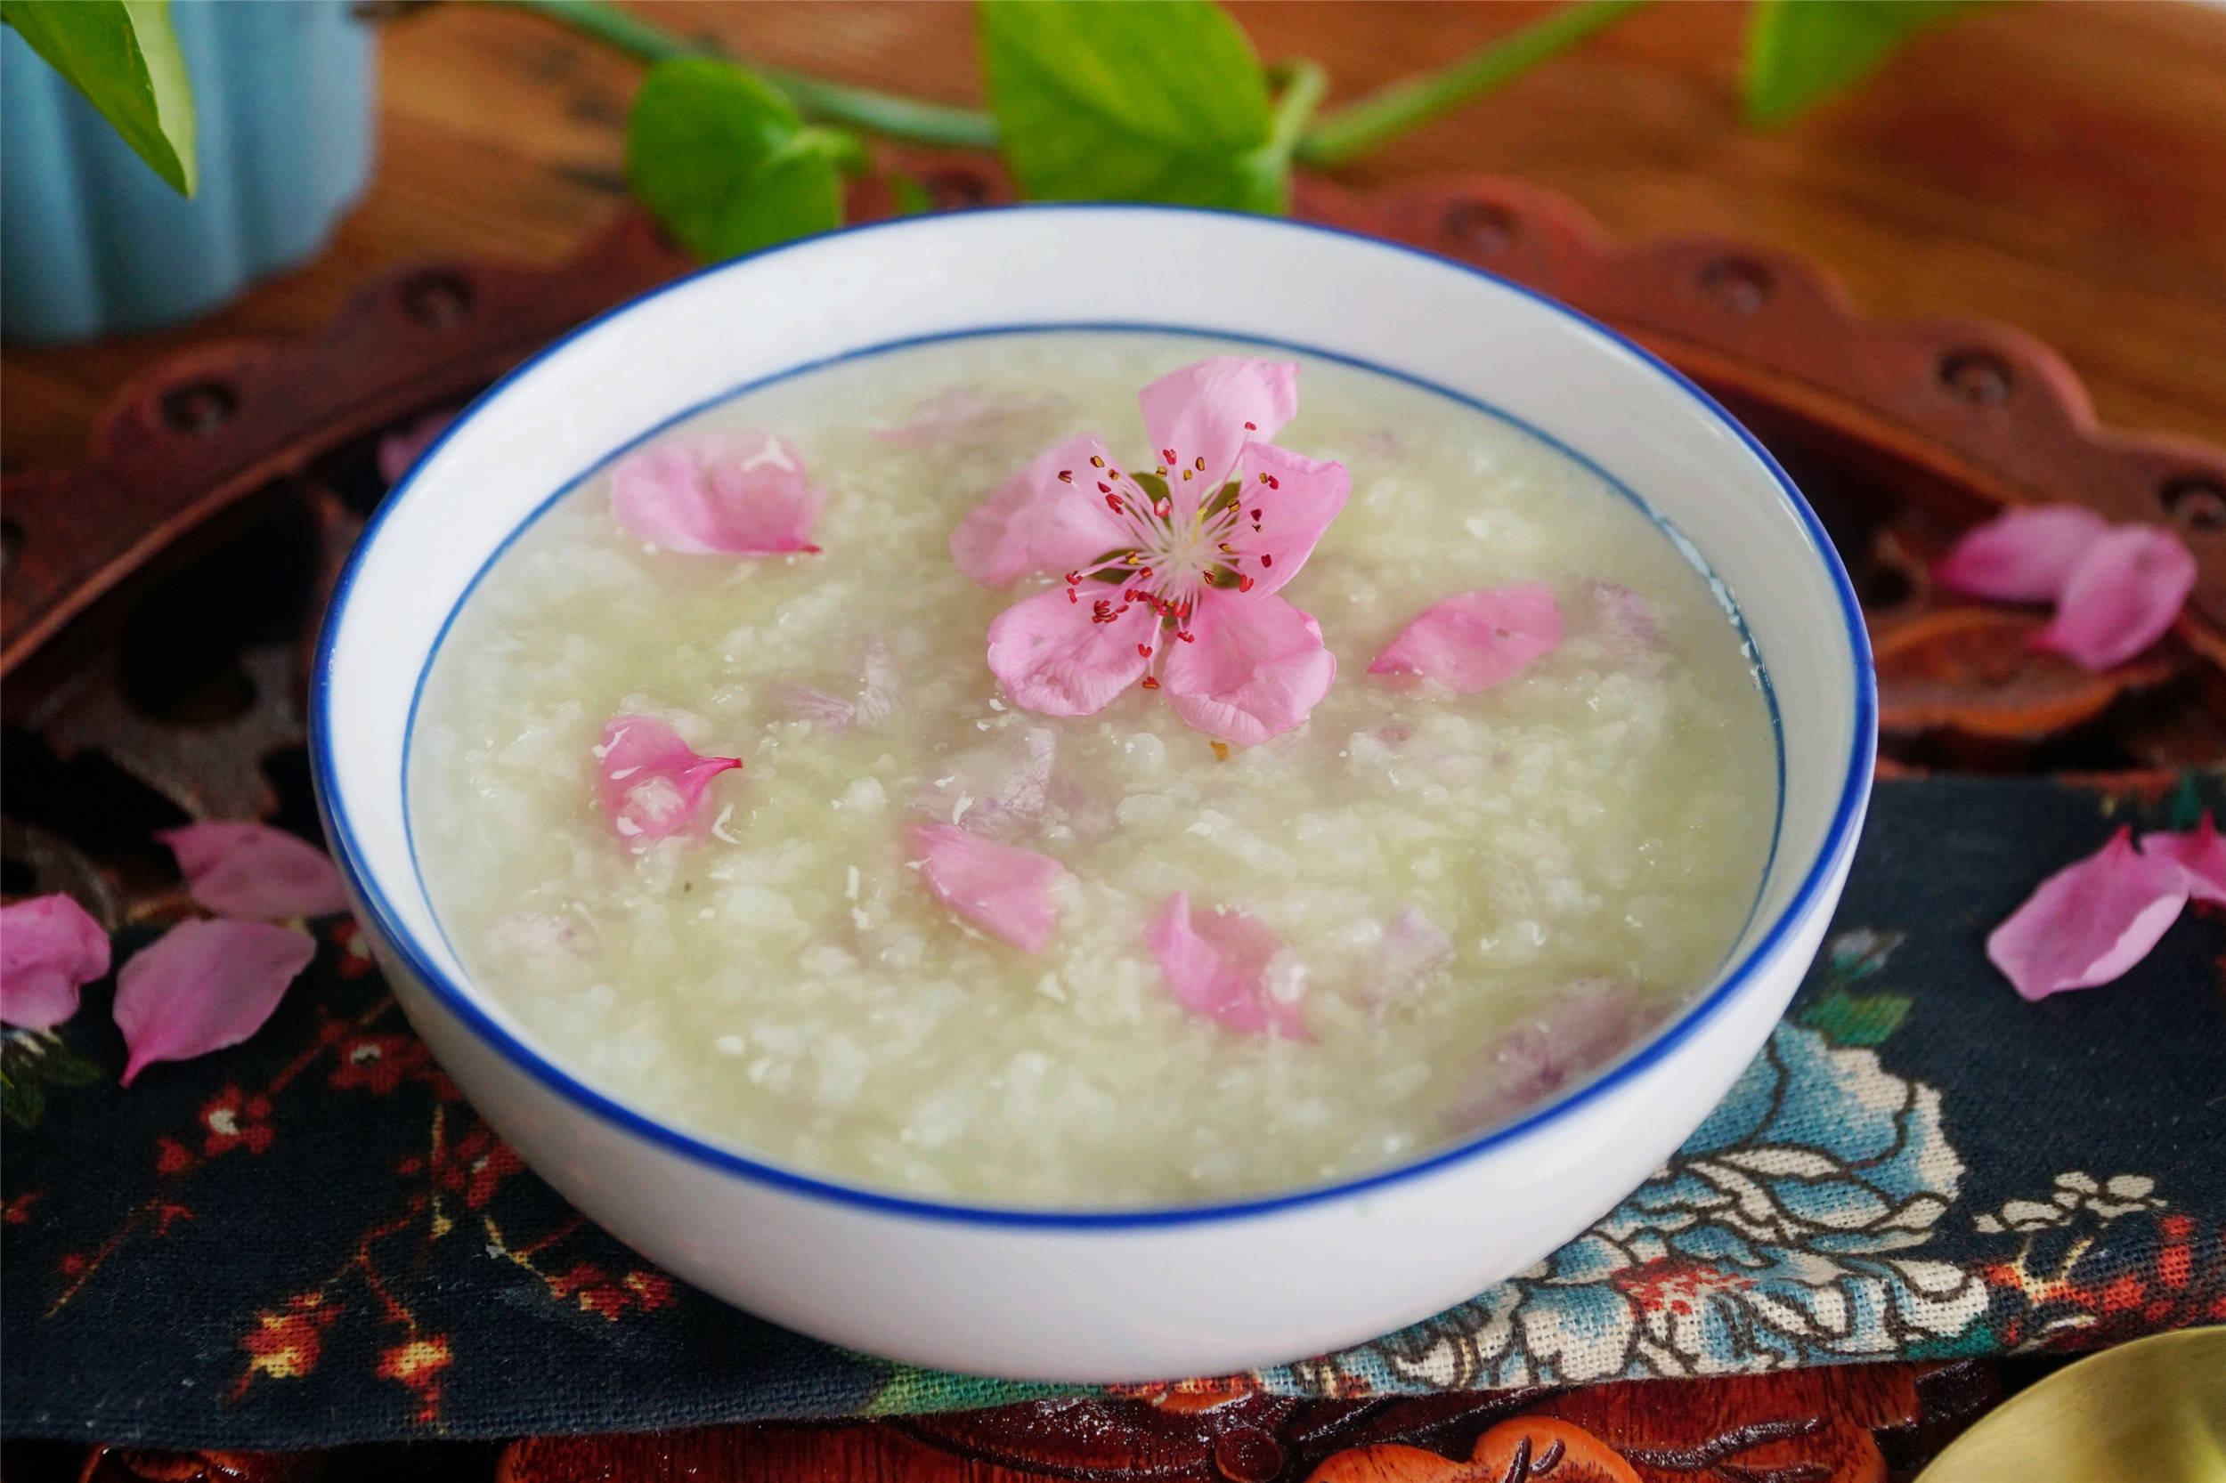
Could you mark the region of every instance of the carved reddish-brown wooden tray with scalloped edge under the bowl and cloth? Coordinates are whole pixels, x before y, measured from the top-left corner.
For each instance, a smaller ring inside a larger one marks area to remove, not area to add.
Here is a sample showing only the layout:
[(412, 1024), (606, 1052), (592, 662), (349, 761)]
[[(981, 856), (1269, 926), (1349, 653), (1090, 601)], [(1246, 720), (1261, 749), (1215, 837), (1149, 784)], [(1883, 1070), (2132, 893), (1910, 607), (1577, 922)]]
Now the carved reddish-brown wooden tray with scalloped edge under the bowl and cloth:
[[(975, 158), (908, 160), (939, 205), (1006, 196)], [(859, 216), (886, 212), (861, 189)], [(1545, 289), (1723, 399), (1848, 557), (1879, 648), (1890, 766), (2126, 770), (2226, 755), (2226, 452), (2099, 428), (2072, 372), (2015, 330), (1861, 318), (1836, 283), (1714, 238), (1616, 245), (1514, 180), (1373, 194), (1302, 183), (1304, 216)], [(178, 911), (147, 846), (183, 815), (314, 831), (301, 679), (329, 581), (385, 490), (381, 434), (681, 272), (621, 218), (548, 272), (396, 269), (298, 343), (211, 343), (127, 385), (82, 465), (11, 477), (0, 675), (9, 895), (69, 888), (109, 924)], [(1478, 354), (1489, 354), (1487, 345)], [(2148, 655), (2086, 675), (2032, 655), (2026, 610), (1939, 601), (1925, 570), (2008, 503), (2170, 521), (2199, 586)], [(40, 1450), (98, 1479), (1712, 1479), (1908, 1476), (2012, 1367), (1868, 1365), (1427, 1401), (1224, 1401), (1175, 1389), (837, 1427), (292, 1456)], [(2015, 1378), (2015, 1376), (2012, 1376)], [(1378, 1447), (1405, 1447), (1385, 1452)], [(7, 1454), (18, 1474), (20, 1447)], [(42, 1465), (45, 1465), (42, 1463)], [(22, 1476), (31, 1476), (24, 1472)]]

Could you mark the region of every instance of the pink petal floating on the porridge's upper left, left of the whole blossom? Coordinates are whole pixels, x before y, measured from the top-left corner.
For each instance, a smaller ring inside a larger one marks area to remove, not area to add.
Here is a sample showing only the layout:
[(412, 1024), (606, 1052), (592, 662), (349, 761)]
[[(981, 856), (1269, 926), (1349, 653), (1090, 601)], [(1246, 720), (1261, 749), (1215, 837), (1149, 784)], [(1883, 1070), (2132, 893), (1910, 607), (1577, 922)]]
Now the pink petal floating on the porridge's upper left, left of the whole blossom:
[(632, 454), (610, 472), (610, 512), (626, 534), (695, 557), (819, 550), (826, 492), (770, 432), (706, 432)]

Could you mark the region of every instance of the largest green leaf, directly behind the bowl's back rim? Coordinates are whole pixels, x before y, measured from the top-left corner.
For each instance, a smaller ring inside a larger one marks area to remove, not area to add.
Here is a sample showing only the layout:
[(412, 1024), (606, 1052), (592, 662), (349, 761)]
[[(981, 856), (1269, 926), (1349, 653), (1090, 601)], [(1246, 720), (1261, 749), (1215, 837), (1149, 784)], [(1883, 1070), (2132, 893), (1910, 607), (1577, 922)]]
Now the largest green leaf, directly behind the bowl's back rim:
[(982, 71), (1024, 196), (1284, 209), (1267, 73), (1206, 0), (982, 0)]

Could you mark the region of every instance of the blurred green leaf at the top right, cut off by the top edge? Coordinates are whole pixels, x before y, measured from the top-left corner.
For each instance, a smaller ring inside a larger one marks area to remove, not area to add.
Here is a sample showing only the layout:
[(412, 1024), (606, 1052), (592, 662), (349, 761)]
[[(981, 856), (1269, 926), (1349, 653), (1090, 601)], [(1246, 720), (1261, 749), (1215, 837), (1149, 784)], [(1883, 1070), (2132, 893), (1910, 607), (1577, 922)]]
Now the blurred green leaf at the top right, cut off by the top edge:
[(1783, 125), (1877, 71), (1905, 38), (1979, 0), (1754, 0), (1747, 120)]

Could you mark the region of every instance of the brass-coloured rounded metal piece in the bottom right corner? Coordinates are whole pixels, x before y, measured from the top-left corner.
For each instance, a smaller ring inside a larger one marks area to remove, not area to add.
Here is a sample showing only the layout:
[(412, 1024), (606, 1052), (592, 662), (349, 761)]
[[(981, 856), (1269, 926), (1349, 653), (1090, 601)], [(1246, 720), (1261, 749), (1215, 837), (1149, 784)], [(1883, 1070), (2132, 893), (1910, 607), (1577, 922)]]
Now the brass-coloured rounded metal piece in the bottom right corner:
[(2226, 1483), (2226, 1327), (2153, 1334), (2055, 1372), (1917, 1483)]

